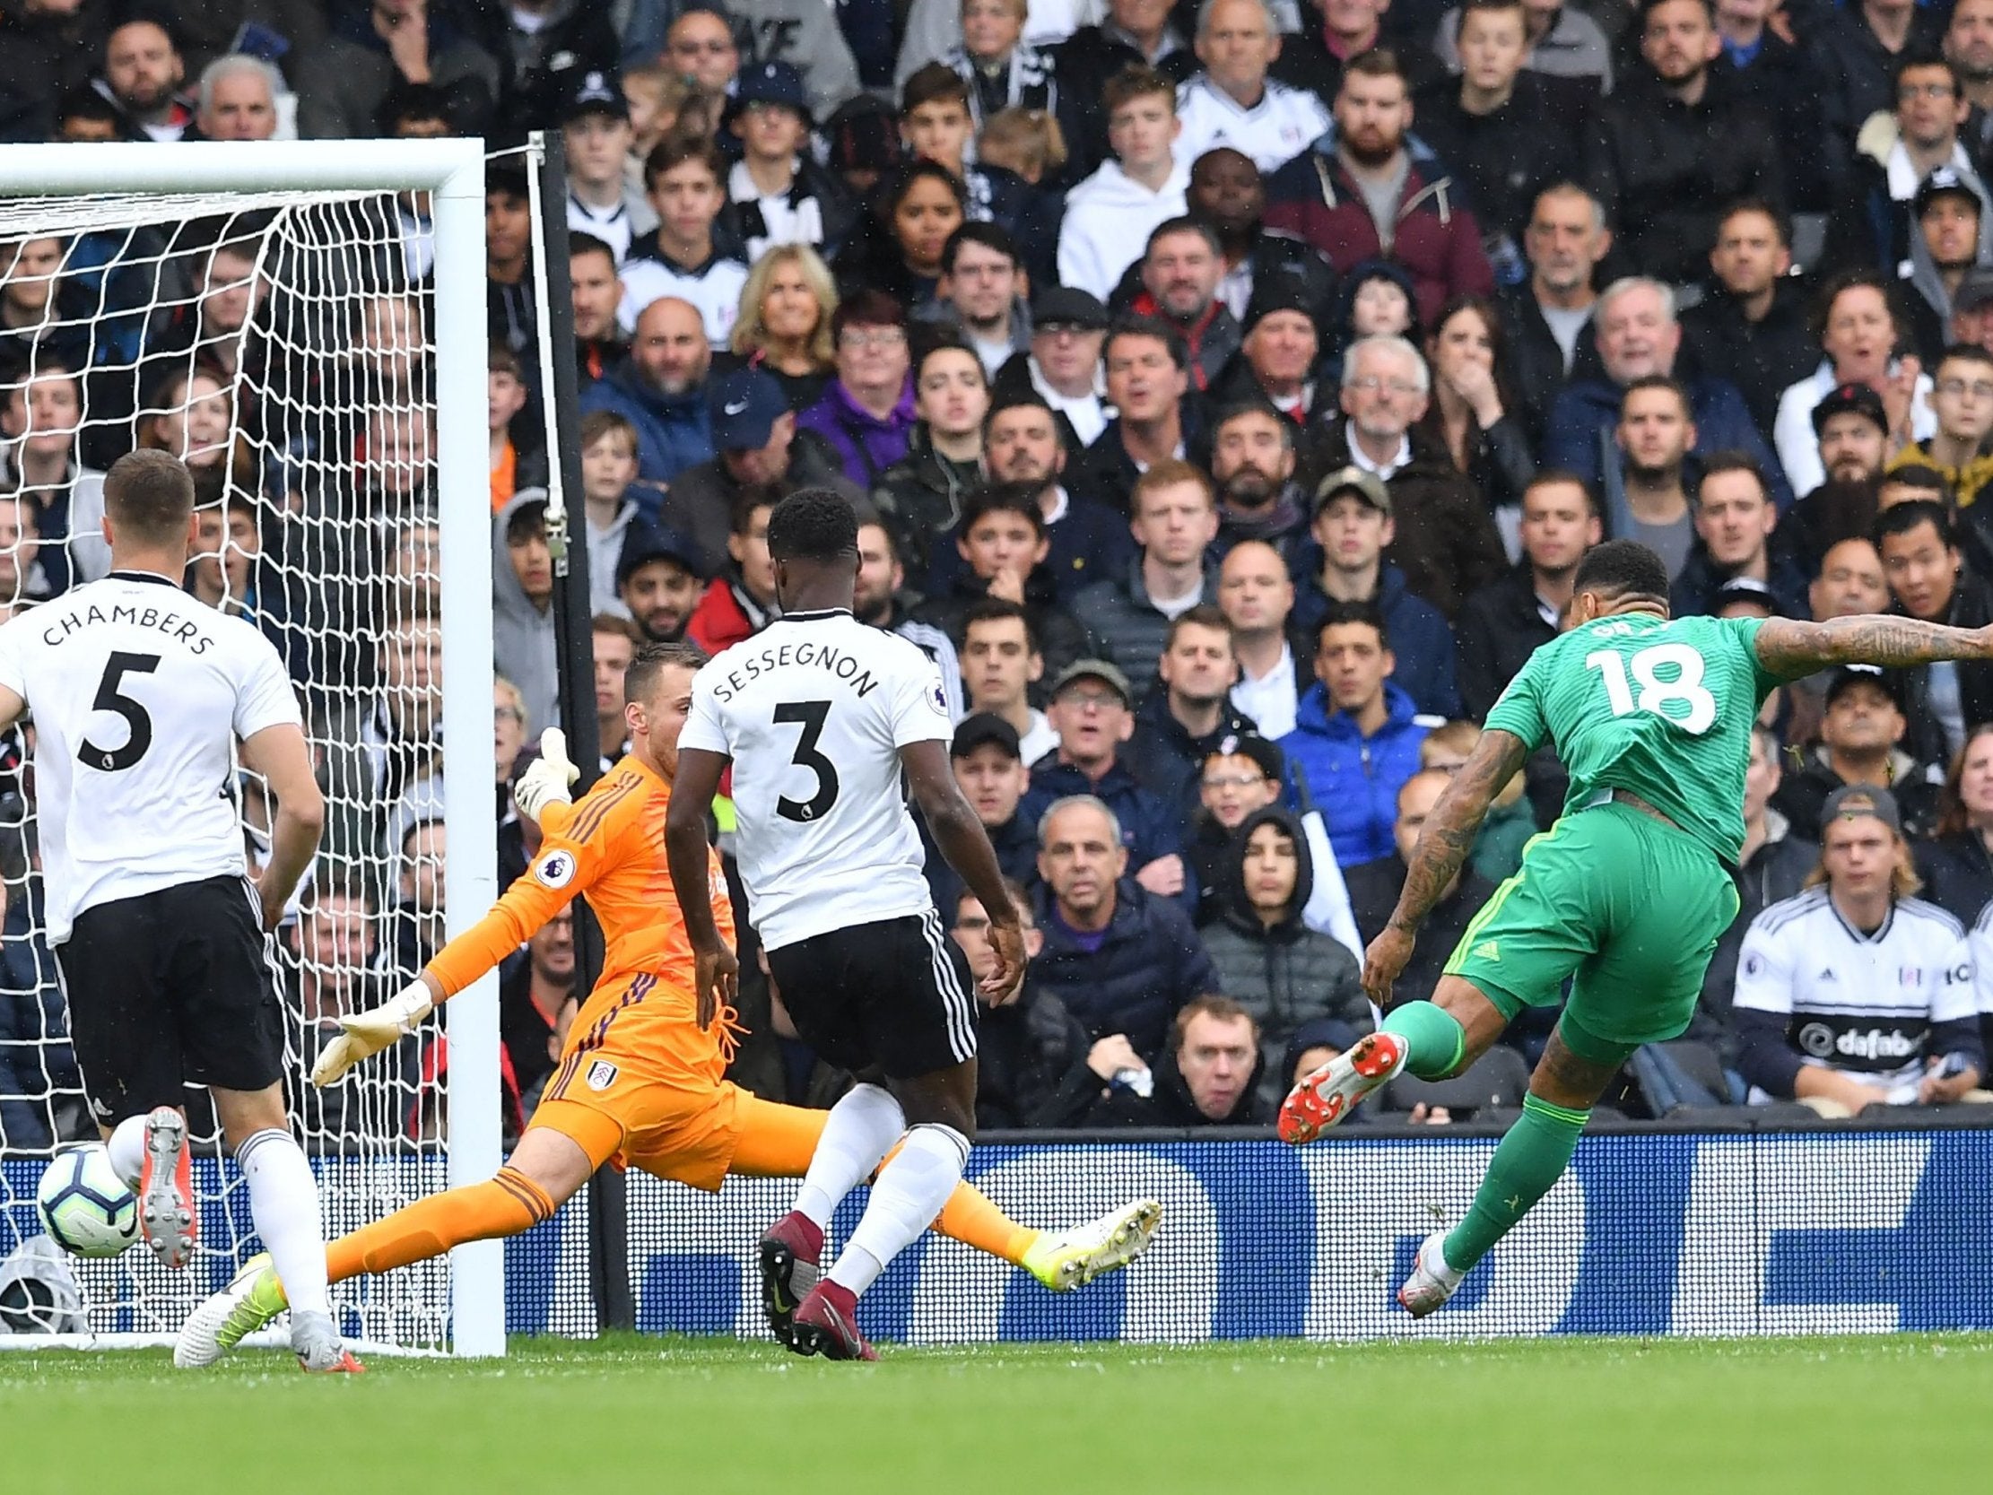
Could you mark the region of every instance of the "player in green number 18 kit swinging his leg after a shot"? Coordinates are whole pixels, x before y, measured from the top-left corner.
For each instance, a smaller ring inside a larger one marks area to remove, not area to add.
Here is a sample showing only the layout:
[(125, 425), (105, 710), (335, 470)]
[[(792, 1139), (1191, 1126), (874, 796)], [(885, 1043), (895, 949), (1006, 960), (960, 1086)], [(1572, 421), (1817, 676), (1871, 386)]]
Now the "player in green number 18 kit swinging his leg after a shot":
[(1557, 825), (1475, 917), (1431, 1001), (1303, 1076), (1280, 1110), (1311, 1142), (1401, 1070), (1457, 1074), (1525, 1007), (1565, 1005), (1467, 1218), (1419, 1246), (1397, 1300), (1423, 1318), (1570, 1164), (1592, 1104), (1642, 1043), (1688, 1029), (1716, 939), (1738, 913), (1744, 767), (1764, 698), (1834, 664), (1993, 658), (1993, 630), (1913, 618), (1668, 618), (1668, 572), (1632, 540), (1578, 566), (1566, 632), (1539, 648), (1489, 712), (1433, 807), (1405, 891), (1371, 941), (1363, 987), (1389, 1005), (1419, 921), (1451, 887), (1489, 803), (1549, 738), (1570, 769)]

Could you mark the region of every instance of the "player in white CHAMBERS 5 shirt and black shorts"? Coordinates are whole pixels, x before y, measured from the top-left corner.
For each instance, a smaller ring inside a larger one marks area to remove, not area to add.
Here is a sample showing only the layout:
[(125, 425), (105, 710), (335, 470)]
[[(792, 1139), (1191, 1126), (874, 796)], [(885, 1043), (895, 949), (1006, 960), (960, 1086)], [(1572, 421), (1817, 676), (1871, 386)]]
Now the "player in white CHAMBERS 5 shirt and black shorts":
[[(48, 943), (70, 1043), (145, 1244), (193, 1252), (185, 1084), (205, 1084), (249, 1180), (311, 1371), (359, 1369), (325, 1292), (319, 1188), (283, 1114), (263, 941), (319, 849), (325, 801), (291, 680), (255, 626), (179, 590), (193, 478), (136, 450), (104, 478), (112, 572), (0, 628), (0, 730), (34, 712)], [(235, 742), (277, 799), (249, 881)]]

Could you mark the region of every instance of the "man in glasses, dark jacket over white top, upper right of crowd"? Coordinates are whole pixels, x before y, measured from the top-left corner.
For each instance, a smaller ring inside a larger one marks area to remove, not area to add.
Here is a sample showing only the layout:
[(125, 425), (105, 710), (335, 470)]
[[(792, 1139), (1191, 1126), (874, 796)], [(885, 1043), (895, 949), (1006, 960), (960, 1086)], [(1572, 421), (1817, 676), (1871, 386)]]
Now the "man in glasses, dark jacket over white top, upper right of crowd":
[(1909, 54), (1895, 68), (1893, 90), (1893, 140), (1877, 151), (1853, 153), (1828, 217), (1828, 241), (1820, 255), (1828, 271), (1893, 275), (1909, 257), (1917, 187), (1939, 169), (1977, 181), (1959, 140), (1971, 106), (1953, 64), (1937, 54)]

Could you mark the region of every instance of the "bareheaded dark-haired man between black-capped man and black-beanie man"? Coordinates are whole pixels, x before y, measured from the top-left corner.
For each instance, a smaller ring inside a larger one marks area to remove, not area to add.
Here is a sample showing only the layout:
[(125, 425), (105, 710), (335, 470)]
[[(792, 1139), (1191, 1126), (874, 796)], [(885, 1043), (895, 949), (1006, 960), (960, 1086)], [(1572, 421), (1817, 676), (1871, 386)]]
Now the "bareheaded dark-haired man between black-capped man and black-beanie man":
[(1136, 480), (1156, 462), (1210, 466), (1210, 448), (1192, 387), (1190, 349), (1158, 317), (1122, 315), (1104, 345), (1114, 419), (1086, 448), (1076, 488), (1096, 502), (1130, 512)]

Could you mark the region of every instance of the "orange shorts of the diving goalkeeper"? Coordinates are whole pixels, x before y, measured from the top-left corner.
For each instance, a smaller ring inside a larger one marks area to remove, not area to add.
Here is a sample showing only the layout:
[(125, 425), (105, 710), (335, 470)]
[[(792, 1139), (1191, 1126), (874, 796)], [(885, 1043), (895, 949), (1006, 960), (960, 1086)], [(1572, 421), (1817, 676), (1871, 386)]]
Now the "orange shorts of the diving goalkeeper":
[(731, 1013), (702, 1031), (692, 997), (654, 977), (596, 989), (532, 1126), (572, 1138), (596, 1166), (713, 1192), (741, 1134), (743, 1092), (721, 1078), (733, 1033)]

